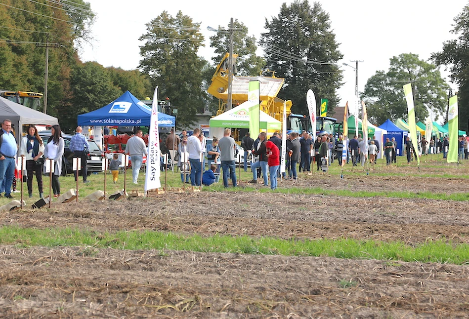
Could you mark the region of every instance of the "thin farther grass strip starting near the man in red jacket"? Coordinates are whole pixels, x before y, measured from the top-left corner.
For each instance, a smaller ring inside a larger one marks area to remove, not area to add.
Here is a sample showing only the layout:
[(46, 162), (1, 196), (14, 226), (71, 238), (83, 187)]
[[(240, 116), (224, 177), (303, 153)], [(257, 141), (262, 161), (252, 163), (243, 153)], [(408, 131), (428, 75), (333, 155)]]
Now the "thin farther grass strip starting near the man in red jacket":
[(325, 190), (320, 187), (313, 188), (277, 188), (272, 191), (269, 187), (265, 188), (224, 188), (223, 185), (216, 185), (204, 188), (205, 191), (218, 191), (218, 192), (253, 192), (259, 193), (281, 193), (281, 194), (301, 194), (301, 195), (336, 195), (336, 196), (347, 196), (354, 198), (370, 198), (370, 197), (385, 197), (385, 198), (402, 198), (402, 199), (440, 199), (440, 200), (455, 200), (465, 201), (469, 200), (468, 193), (432, 193), (432, 192), (370, 192), (370, 191), (351, 191), (351, 190)]

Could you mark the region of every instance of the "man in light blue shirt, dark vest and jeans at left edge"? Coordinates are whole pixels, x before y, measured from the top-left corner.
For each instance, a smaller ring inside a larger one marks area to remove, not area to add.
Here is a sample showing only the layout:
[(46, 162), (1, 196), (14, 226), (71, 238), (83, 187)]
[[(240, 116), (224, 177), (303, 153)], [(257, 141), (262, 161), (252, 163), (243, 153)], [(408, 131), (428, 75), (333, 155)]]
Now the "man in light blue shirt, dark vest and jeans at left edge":
[(11, 184), (15, 176), (15, 156), (18, 151), (16, 138), (11, 131), (11, 120), (3, 120), (0, 133), (0, 193), (4, 191), (5, 197), (11, 199), (13, 198)]

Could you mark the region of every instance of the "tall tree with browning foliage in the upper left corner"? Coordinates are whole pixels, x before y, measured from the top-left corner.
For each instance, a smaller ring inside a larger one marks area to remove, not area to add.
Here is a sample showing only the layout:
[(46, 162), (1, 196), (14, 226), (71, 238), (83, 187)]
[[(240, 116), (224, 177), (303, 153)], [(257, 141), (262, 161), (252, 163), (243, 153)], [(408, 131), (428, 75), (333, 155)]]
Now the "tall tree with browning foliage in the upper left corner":
[(74, 43), (86, 39), (93, 21), (89, 3), (82, 0), (2, 1), (0, 87), (44, 92), (48, 44), (47, 113), (60, 121), (73, 98), (70, 77), (79, 62)]

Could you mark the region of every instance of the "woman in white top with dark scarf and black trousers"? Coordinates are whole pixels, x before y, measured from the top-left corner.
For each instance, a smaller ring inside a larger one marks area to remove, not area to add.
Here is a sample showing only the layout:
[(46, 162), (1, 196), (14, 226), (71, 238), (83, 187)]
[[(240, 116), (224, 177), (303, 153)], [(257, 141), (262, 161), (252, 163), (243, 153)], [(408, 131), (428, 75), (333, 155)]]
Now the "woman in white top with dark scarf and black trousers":
[(36, 126), (30, 124), (28, 135), (23, 137), (20, 144), (20, 156), (24, 156), (24, 160), (26, 160), (29, 198), (33, 197), (33, 172), (36, 173), (36, 180), (38, 181), (39, 198), (43, 198), (43, 175), (41, 172), (43, 154), (43, 139), (39, 136)]

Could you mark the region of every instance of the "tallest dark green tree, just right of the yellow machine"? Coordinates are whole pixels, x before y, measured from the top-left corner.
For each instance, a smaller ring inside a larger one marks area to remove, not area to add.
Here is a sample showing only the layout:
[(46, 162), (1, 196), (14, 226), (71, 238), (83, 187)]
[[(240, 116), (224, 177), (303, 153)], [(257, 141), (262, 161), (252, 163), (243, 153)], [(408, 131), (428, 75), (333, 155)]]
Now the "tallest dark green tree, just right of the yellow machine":
[(279, 97), (292, 100), (297, 113), (307, 114), (306, 92), (312, 89), (319, 105), (329, 99), (329, 110), (339, 102), (336, 90), (342, 74), (337, 62), (342, 58), (339, 43), (331, 30), (329, 14), (319, 2), (311, 7), (307, 0), (282, 4), (280, 13), (265, 22), (267, 33), (260, 43), (265, 51), (266, 67), (285, 79)]

